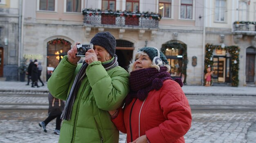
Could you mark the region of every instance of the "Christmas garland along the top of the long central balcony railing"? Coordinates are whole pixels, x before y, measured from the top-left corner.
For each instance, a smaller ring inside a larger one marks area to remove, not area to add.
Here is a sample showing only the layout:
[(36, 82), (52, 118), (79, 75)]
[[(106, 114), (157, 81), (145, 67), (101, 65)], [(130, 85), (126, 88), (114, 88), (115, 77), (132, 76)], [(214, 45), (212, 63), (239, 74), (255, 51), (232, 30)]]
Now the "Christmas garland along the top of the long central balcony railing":
[(93, 10), (93, 9), (83, 9), (83, 15), (112, 15), (115, 17), (146, 17), (153, 20), (161, 20), (161, 15), (156, 13), (149, 13), (149, 12), (130, 12), (130, 11), (101, 11), (99, 9)]

